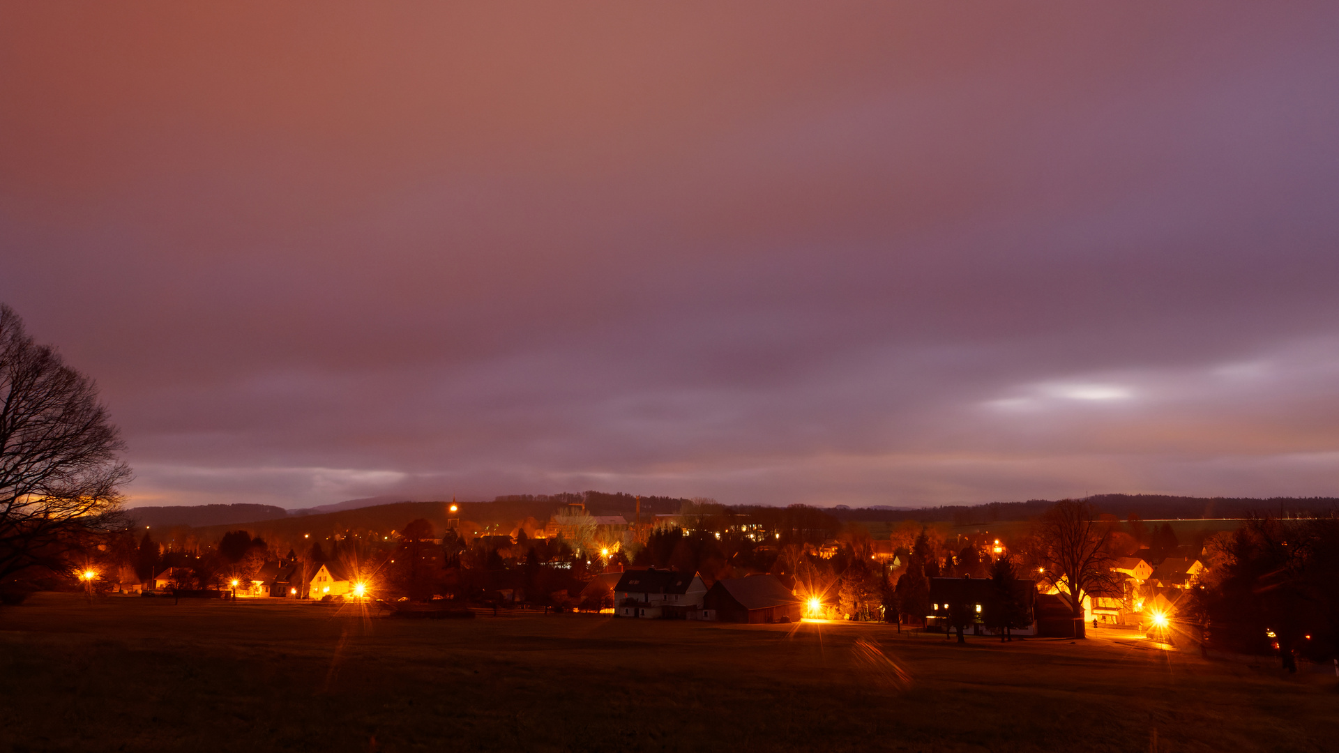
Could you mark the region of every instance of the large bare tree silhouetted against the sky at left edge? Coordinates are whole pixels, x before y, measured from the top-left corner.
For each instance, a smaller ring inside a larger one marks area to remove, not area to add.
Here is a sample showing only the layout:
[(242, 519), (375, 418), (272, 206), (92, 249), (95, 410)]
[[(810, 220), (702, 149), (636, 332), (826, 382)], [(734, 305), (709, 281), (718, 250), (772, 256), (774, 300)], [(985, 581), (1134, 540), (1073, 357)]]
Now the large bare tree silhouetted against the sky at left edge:
[(0, 583), (66, 569), (82, 537), (122, 525), (123, 449), (94, 382), (0, 304)]

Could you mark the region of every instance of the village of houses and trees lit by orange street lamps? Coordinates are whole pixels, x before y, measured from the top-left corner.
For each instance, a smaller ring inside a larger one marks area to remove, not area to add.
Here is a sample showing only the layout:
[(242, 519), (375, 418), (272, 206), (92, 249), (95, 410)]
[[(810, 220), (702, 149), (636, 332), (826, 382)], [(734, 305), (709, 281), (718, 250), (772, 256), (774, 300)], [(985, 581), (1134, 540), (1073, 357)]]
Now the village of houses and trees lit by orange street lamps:
[[(212, 547), (187, 539), (191, 548), (158, 544), (146, 532), (133, 552), (122, 547), (130, 556), (121, 563), (90, 560), (84, 587), (362, 604), (400, 616), (473, 615), (473, 608), (751, 624), (874, 622), (959, 639), (1121, 630), (1161, 640), (1180, 632), (1181, 640), (1202, 643), (1206, 634), (1202, 610), (1192, 603), (1213, 541), (1181, 544), (1166, 523), (1150, 529), (1139, 520), (1091, 521), (1099, 543), (1079, 581), (1063, 572), (1063, 552), (1016, 525), (1011, 535), (981, 528), (949, 540), (932, 525), (904, 523), (874, 539), (814, 508), (740, 512), (704, 502), (643, 519), (640, 504), (624, 516), (577, 500), (507, 529), (507, 521), (462, 519), (454, 501), (438, 505), (441, 531), (416, 519), (387, 532), (344, 531), (315, 541), (305, 532), (276, 545), (238, 529)], [(1078, 610), (1071, 590), (1081, 595)]]

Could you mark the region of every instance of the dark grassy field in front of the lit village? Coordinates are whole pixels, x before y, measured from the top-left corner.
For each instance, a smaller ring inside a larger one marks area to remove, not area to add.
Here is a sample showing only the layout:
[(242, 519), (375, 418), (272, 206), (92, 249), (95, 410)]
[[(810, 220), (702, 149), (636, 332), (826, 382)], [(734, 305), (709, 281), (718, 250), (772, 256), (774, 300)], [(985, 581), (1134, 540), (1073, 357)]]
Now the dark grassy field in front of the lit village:
[(0, 607), (0, 750), (1339, 750), (1332, 673), (1095, 634), (39, 594)]

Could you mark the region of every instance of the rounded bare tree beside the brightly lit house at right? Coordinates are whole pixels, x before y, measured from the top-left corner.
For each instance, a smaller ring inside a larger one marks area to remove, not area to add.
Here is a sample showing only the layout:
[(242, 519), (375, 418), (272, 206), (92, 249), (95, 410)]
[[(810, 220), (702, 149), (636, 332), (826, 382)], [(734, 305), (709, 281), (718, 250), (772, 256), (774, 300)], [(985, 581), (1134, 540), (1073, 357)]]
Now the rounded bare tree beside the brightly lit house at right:
[(1070, 603), (1075, 638), (1083, 638), (1083, 598), (1117, 591), (1110, 537), (1111, 528), (1098, 523), (1093, 505), (1078, 500), (1055, 502), (1036, 528), (1036, 556), (1043, 563), (1039, 575)]

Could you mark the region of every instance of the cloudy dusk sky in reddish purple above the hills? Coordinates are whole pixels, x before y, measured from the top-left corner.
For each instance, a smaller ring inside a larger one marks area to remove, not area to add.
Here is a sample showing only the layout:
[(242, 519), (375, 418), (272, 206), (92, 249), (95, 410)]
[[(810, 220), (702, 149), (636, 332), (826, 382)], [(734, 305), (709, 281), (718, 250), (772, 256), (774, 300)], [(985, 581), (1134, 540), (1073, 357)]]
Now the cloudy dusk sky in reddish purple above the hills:
[(137, 505), (1335, 494), (1336, 39), (4, 3), (0, 300), (98, 381)]

